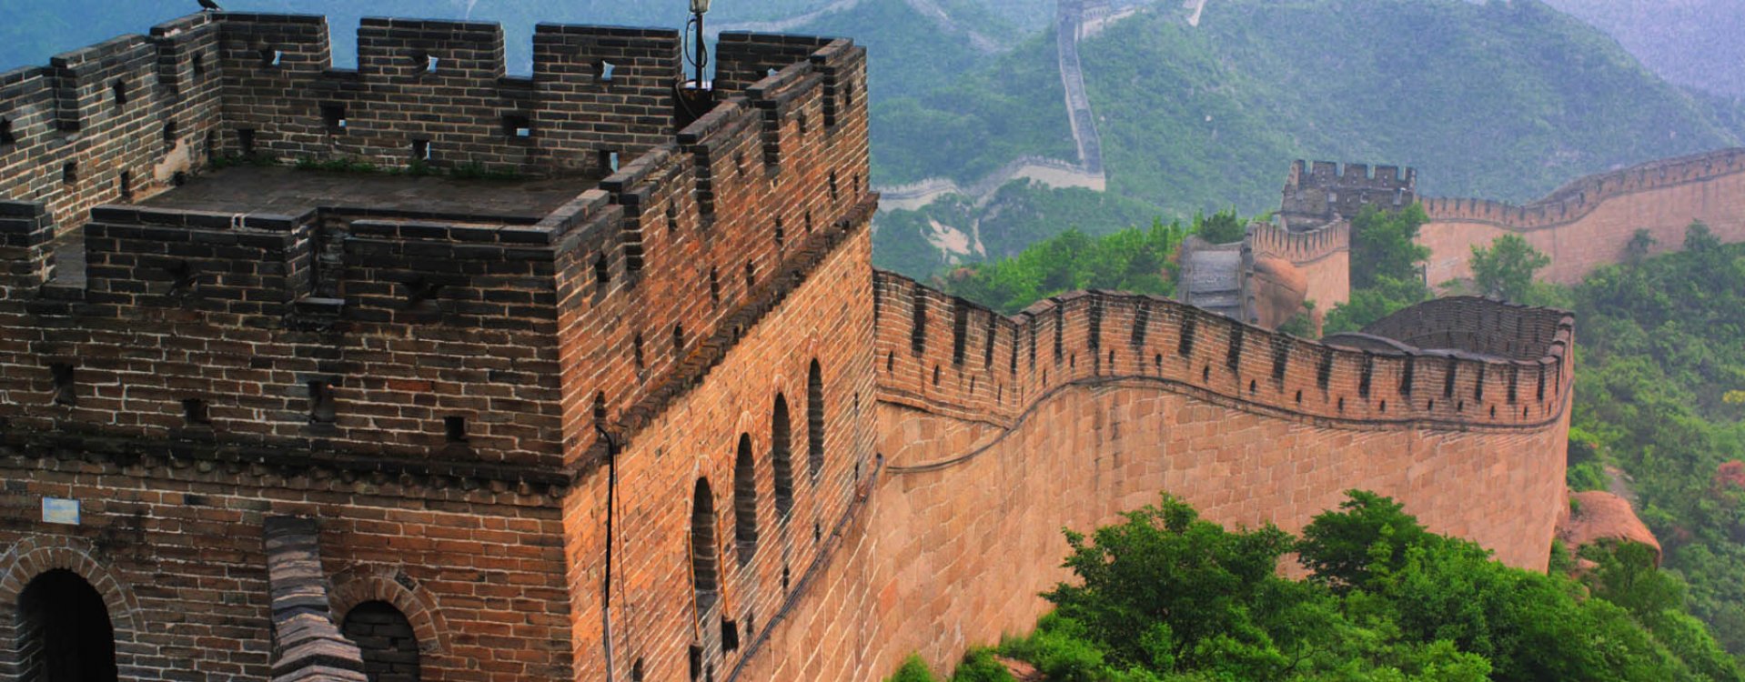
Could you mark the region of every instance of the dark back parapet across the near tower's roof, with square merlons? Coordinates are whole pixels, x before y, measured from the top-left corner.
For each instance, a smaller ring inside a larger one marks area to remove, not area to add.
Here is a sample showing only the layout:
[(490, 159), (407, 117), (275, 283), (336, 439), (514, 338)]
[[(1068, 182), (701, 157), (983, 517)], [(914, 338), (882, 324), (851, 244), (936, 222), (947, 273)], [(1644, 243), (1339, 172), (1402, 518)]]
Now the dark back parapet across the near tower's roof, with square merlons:
[(358, 68), (339, 70), (325, 17), (218, 21), (229, 153), (248, 129), (272, 157), (400, 167), (428, 143), (433, 167), (606, 174), (611, 153), (628, 164), (675, 133), (677, 31), (539, 24), (524, 78), (489, 23), (365, 19)]

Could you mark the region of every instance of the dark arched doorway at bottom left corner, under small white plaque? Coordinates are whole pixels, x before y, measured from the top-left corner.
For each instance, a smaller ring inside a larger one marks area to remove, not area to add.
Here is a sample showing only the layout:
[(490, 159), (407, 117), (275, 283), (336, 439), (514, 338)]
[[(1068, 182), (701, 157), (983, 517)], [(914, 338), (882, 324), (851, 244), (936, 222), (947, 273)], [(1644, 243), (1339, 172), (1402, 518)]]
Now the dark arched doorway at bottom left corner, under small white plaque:
[(108, 605), (72, 570), (49, 570), (17, 598), (23, 680), (115, 680), (115, 628)]

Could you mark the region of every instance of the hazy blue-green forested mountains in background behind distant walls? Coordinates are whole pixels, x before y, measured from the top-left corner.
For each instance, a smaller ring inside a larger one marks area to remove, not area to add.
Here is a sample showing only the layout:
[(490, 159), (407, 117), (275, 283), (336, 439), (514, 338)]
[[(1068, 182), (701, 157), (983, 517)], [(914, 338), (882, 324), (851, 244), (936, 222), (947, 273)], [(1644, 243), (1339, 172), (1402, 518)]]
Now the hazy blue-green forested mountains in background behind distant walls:
[[(1429, 195), (1532, 201), (1588, 173), (1740, 143), (1736, 103), (1666, 84), (1536, 0), (1218, 0), (1197, 28), (1157, 3), (1080, 52), (1110, 190), (1166, 218), (1274, 209), (1298, 157), (1415, 166)], [(1066, 126), (1052, 59), (1054, 38), (1038, 37), (984, 73), (879, 103), (878, 180), (1066, 155), (1063, 133), (1038, 133)], [(1014, 120), (1023, 134), (1000, 134)], [(995, 202), (970, 220), (1009, 232), (1000, 215)], [(944, 260), (879, 265), (923, 274)]]

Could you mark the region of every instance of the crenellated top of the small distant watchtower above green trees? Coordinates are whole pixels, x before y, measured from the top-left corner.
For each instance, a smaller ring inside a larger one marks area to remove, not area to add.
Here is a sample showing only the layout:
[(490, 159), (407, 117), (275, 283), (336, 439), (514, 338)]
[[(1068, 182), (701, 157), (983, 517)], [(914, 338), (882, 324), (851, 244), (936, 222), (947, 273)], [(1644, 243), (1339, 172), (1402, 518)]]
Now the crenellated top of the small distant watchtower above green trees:
[(1340, 166), (1328, 160), (1297, 160), (1284, 181), (1284, 202), (1279, 216), (1293, 232), (1312, 230), (1340, 216), (1358, 215), (1365, 204), (1399, 209), (1417, 201), (1417, 169), (1366, 164)]

